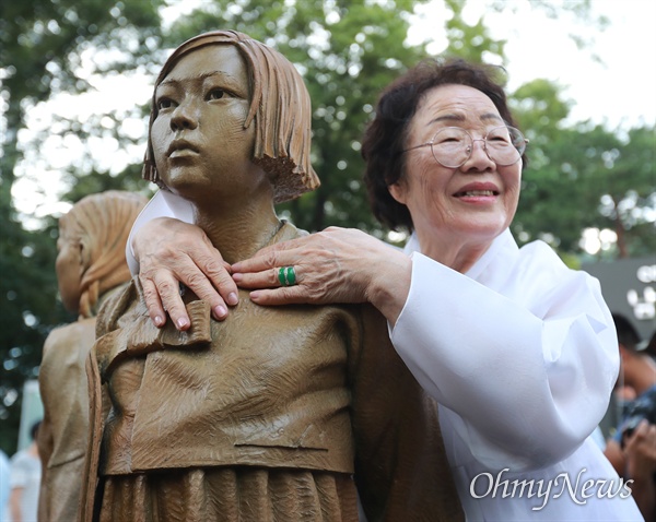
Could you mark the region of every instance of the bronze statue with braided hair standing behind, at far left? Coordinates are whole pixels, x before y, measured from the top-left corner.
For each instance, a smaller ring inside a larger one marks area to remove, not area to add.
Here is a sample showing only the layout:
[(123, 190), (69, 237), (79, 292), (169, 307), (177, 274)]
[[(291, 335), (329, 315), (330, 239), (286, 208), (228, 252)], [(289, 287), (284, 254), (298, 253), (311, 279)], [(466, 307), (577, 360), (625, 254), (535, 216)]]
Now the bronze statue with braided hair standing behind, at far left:
[(59, 218), (57, 281), (67, 310), (78, 320), (50, 332), (38, 383), (44, 420), (39, 520), (75, 520), (89, 430), (84, 365), (95, 341), (101, 306), (130, 281), (126, 241), (147, 199), (109, 190), (78, 201)]

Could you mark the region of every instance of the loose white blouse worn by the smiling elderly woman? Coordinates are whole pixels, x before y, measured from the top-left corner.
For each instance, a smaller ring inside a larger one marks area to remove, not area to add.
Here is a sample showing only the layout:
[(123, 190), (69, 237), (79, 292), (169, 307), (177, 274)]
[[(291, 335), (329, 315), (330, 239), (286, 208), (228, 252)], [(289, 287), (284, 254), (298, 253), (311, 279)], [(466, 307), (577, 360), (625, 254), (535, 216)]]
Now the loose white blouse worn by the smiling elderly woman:
[(509, 230), (462, 275), (419, 252), (390, 336), (440, 422), (468, 521), (641, 521), (589, 435), (619, 369), (599, 283)]

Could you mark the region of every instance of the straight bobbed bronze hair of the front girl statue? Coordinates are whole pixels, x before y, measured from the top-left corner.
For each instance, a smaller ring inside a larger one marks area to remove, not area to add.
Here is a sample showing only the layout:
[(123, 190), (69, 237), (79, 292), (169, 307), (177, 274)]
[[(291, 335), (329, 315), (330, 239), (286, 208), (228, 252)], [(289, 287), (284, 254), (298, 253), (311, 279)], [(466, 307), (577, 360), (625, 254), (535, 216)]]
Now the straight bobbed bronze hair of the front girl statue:
[[(250, 109), (244, 128), (256, 126), (254, 162), (269, 175), (276, 203), (316, 189), (319, 179), (309, 161), (312, 107), (309, 94), (294, 66), (280, 52), (235, 31), (214, 31), (196, 36), (171, 55), (155, 82), (155, 92), (177, 61), (207, 45), (237, 48), (248, 71)], [(157, 117), (155, 94), (151, 109), (143, 177), (163, 189), (154, 163), (150, 130)]]

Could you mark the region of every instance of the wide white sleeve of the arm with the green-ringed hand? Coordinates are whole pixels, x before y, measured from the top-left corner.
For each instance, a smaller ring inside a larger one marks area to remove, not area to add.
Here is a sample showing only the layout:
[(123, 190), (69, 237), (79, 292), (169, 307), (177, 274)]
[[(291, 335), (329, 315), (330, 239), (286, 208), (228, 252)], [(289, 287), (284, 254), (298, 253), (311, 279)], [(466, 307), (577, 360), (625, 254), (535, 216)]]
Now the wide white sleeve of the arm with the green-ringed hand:
[(524, 270), (502, 295), (420, 253), (412, 263), (391, 340), (472, 455), (522, 471), (573, 453), (604, 416), (619, 368), (597, 280), (564, 265)]

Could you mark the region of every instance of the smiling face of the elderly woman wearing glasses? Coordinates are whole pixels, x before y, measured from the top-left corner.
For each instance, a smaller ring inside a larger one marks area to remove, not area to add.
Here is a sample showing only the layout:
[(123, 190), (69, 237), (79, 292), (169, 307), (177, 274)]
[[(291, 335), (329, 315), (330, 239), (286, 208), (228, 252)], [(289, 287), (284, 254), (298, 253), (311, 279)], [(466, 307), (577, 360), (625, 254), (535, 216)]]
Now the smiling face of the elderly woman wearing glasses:
[[(445, 127), (462, 128), (481, 140), (490, 129), (503, 124), (499, 110), (482, 92), (441, 85), (420, 102), (406, 149), (431, 141)], [(440, 165), (430, 146), (405, 153), (406, 171), (389, 190), (408, 206), (422, 251), (454, 242), (489, 245), (511, 224), (519, 200), (522, 161), (497, 166), (482, 143), (473, 142), (471, 156), (458, 168)]]

